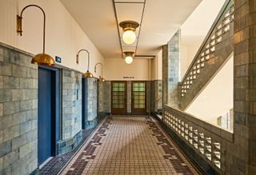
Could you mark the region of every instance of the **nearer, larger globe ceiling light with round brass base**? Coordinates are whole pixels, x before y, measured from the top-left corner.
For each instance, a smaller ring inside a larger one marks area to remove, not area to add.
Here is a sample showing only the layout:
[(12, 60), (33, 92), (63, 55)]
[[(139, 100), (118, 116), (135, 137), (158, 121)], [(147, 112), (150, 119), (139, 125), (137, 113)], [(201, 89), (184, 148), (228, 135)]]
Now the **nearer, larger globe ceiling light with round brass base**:
[(134, 43), (136, 40), (136, 34), (134, 32), (139, 26), (138, 22), (124, 21), (120, 22), (119, 26), (121, 26), (122, 30), (124, 31), (124, 33), (122, 34), (122, 40), (129, 45)]

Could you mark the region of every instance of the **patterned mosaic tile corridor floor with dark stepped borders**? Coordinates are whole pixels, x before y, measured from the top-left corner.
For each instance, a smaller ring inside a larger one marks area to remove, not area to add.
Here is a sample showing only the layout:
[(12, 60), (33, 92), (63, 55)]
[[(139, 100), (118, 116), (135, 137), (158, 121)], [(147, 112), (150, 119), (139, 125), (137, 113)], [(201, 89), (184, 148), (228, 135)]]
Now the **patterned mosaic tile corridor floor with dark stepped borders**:
[(108, 117), (62, 174), (198, 174), (149, 117)]

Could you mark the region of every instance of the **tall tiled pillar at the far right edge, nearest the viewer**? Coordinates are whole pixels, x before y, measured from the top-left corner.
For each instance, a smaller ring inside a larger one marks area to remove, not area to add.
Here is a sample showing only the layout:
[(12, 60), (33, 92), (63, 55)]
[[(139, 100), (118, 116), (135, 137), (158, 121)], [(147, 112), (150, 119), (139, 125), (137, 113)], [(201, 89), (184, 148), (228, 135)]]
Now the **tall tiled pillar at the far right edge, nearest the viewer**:
[(256, 172), (256, 0), (234, 0), (234, 153), (230, 174)]

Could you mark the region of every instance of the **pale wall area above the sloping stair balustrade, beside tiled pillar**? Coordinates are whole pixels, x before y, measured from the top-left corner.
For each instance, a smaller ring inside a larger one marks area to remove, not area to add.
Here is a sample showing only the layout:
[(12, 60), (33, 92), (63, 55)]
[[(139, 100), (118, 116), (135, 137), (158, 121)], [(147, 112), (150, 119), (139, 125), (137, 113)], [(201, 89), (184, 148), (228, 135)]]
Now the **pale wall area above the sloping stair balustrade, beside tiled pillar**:
[(226, 0), (203, 0), (181, 27), (182, 78)]

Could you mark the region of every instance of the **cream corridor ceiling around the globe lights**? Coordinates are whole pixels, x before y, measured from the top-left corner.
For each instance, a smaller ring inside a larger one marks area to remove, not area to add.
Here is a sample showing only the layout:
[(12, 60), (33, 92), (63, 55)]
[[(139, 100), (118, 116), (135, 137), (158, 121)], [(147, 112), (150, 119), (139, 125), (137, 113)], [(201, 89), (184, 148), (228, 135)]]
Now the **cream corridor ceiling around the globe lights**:
[[(111, 0), (61, 0), (73, 18), (82, 27), (104, 58), (121, 58), (118, 26)], [(118, 2), (144, 2), (144, 0), (115, 0)], [(146, 0), (138, 55), (155, 55), (169, 42), (186, 18), (202, 0)], [(116, 5), (118, 21), (140, 22), (142, 4)], [(138, 31), (137, 31), (138, 32)], [(137, 33), (138, 34), (138, 33)]]

